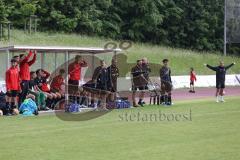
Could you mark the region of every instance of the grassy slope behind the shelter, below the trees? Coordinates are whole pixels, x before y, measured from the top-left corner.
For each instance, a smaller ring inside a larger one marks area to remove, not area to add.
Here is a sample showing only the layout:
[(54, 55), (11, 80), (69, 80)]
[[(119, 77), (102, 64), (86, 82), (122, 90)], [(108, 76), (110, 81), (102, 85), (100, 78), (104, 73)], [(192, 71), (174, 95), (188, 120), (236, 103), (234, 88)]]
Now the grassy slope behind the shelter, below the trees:
[[(24, 34), (23, 31), (14, 30), (10, 42), (0, 42), (0, 46), (6, 45), (53, 45), (53, 46), (79, 46), (79, 47), (104, 47), (110, 39), (99, 37), (87, 37), (77, 34), (62, 34), (62, 33), (36, 33), (33, 35)], [(119, 43), (119, 42), (116, 42)], [(165, 46), (157, 46), (151, 44), (134, 43), (133, 46), (124, 52), (127, 56), (128, 63), (135, 63), (135, 61), (142, 57), (149, 58), (151, 63), (160, 64), (163, 58), (171, 60), (173, 75), (188, 75), (189, 68), (194, 67), (197, 74), (214, 74), (214, 72), (206, 69), (203, 64), (209, 63), (217, 65), (219, 60), (224, 60), (226, 64), (236, 62), (237, 65), (229, 70), (229, 74), (239, 74), (240, 71), (240, 57), (227, 56), (223, 57), (222, 53), (205, 53), (196, 52), (185, 49), (175, 49)], [(104, 58), (109, 59), (112, 55), (106, 55)], [(53, 68), (53, 55), (48, 55), (46, 67), (49, 70)], [(59, 63), (63, 63), (64, 56), (58, 59)], [(4, 58), (0, 60), (1, 64), (6, 63)], [(5, 66), (5, 65), (1, 65)], [(34, 66), (34, 69), (40, 67), (40, 63)], [(4, 69), (3, 69), (4, 70)], [(130, 70), (126, 66), (121, 66), (121, 70)], [(156, 70), (158, 72), (158, 69)], [(157, 73), (158, 75), (158, 73)]]

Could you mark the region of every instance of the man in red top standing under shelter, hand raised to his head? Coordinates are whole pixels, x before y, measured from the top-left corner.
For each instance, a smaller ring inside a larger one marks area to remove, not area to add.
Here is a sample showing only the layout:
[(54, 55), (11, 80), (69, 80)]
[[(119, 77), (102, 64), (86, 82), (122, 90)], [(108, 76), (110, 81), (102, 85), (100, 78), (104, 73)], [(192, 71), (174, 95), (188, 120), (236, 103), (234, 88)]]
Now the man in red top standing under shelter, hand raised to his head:
[[(75, 61), (71, 63), (68, 67), (69, 72), (69, 94), (76, 94), (78, 92), (79, 81), (81, 79), (81, 69), (82, 67), (87, 67), (87, 62), (82, 58), (82, 56), (77, 55)], [(74, 98), (70, 96), (70, 99)]]

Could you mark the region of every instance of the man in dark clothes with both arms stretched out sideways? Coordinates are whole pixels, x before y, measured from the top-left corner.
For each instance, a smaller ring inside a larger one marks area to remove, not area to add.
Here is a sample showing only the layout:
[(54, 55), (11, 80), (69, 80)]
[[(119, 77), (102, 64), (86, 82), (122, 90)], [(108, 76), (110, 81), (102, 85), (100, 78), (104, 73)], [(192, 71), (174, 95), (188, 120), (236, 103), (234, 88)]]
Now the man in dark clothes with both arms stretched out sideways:
[(209, 69), (216, 72), (216, 102), (225, 102), (224, 100), (224, 89), (225, 89), (225, 77), (226, 72), (236, 63), (233, 62), (232, 64), (225, 66), (223, 61), (219, 62), (219, 66), (212, 67), (208, 64), (204, 64)]

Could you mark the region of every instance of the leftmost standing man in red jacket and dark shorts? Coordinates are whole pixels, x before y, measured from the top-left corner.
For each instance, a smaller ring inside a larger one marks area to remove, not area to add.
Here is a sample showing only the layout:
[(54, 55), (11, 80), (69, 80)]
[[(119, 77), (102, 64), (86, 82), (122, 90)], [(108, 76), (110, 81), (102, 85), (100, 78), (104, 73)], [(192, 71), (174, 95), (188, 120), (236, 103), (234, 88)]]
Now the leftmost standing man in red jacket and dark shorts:
[(6, 115), (17, 114), (17, 96), (21, 91), (18, 63), (11, 60), (11, 67), (6, 72)]

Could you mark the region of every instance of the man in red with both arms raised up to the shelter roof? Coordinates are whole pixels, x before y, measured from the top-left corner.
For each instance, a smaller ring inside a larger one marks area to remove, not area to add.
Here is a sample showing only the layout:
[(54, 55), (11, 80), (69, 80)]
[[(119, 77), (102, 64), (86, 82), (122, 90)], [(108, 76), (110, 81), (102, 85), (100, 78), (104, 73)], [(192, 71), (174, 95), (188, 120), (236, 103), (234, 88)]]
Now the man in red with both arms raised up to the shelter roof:
[[(29, 59), (31, 58), (31, 56), (33, 55), (32, 60), (29, 61)], [(22, 89), (22, 93), (20, 96), (20, 103), (22, 103), (28, 93), (29, 90), (29, 81), (30, 81), (30, 66), (33, 65), (36, 61), (37, 58), (37, 54), (36, 51), (33, 52), (29, 51), (29, 53), (27, 55), (25, 54), (21, 54), (20, 55), (20, 61), (19, 61), (19, 66), (20, 66), (20, 79), (21, 79), (21, 89)]]

